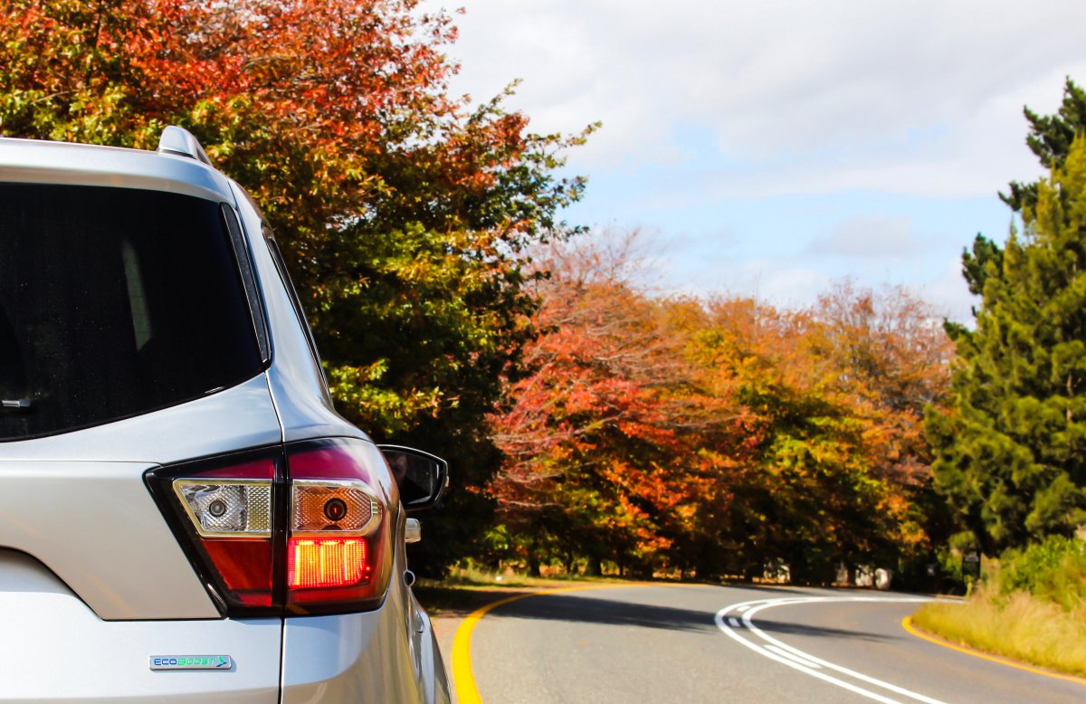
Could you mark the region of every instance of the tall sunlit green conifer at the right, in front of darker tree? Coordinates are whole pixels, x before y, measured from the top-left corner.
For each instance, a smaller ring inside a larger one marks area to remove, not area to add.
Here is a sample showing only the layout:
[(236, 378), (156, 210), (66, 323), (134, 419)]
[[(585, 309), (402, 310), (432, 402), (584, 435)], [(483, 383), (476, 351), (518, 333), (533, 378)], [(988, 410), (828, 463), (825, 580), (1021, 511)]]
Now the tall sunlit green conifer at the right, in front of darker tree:
[(935, 477), (988, 554), (1086, 523), (1086, 139), (1037, 184), (959, 336)]

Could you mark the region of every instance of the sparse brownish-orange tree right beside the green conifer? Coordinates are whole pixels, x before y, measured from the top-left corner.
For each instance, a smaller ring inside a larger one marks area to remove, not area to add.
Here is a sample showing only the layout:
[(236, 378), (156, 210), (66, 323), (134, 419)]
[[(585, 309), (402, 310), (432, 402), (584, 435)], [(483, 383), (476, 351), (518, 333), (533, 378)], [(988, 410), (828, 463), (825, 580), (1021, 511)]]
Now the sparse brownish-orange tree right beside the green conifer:
[(894, 516), (889, 552), (901, 568), (919, 567), (952, 526), (934, 490), (923, 425), (925, 408), (948, 403), (954, 345), (936, 311), (904, 287), (876, 292), (838, 284), (812, 314), (816, 353), (867, 426), (868, 472), (886, 488), (880, 511)]

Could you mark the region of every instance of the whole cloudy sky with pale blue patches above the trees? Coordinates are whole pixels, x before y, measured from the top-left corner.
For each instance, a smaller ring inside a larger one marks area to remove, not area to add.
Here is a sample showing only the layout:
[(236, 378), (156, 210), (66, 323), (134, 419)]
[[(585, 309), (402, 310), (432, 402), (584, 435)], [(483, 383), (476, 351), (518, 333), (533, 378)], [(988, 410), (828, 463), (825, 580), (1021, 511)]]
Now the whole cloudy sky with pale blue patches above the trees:
[(533, 131), (602, 122), (564, 217), (640, 229), (681, 293), (805, 306), (849, 277), (970, 319), (962, 249), (1003, 241), (998, 191), (1044, 173), (1022, 108), (1086, 83), (1082, 0), (460, 3), (452, 90), (520, 79)]

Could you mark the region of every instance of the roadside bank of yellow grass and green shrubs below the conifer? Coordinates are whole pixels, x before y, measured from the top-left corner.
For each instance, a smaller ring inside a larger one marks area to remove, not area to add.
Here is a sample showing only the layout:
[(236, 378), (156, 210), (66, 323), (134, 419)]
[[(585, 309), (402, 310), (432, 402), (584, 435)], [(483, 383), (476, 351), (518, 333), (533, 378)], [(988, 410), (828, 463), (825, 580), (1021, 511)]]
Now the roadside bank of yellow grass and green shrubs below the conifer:
[(1086, 677), (1086, 548), (1048, 541), (1005, 556), (967, 602), (925, 604), (912, 621), (955, 643)]

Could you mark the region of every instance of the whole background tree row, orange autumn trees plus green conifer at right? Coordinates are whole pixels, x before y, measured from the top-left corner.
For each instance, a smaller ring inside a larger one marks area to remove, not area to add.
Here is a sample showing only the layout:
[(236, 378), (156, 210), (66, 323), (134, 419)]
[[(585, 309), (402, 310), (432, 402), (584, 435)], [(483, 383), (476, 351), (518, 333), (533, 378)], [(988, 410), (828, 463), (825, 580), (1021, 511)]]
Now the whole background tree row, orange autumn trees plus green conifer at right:
[(800, 311), (654, 298), (621, 249), (552, 250), (535, 372), (494, 419), (491, 558), (825, 581), (1082, 531), (1086, 91), (1025, 116), (1050, 176), (963, 254), (975, 326), (847, 285)]

